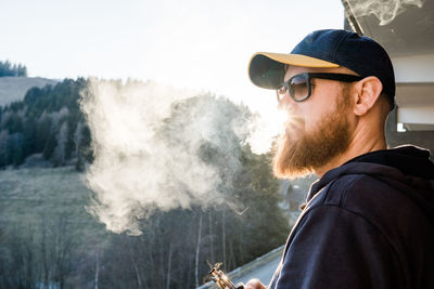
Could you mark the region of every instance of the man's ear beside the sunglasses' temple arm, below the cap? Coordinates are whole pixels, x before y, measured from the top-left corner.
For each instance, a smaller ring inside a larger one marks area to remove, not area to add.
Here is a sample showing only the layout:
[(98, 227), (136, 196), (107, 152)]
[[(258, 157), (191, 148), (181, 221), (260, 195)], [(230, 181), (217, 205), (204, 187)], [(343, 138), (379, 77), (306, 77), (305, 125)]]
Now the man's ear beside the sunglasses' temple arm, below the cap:
[(355, 88), (357, 95), (354, 113), (357, 116), (362, 116), (366, 115), (375, 104), (383, 91), (383, 84), (376, 77), (369, 76), (358, 81)]

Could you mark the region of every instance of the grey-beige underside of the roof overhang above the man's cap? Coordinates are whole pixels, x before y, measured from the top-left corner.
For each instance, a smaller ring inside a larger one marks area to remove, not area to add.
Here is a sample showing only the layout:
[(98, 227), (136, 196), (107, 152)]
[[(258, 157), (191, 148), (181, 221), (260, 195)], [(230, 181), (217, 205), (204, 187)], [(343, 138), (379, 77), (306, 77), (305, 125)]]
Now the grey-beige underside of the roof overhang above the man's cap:
[[(433, 0), (343, 0), (343, 3), (347, 15), (355, 19), (353, 24), (380, 42), (392, 57), (434, 53)], [(391, 11), (384, 11), (387, 9)], [(397, 12), (393, 21), (392, 11)], [(390, 23), (380, 25), (382, 17)]]

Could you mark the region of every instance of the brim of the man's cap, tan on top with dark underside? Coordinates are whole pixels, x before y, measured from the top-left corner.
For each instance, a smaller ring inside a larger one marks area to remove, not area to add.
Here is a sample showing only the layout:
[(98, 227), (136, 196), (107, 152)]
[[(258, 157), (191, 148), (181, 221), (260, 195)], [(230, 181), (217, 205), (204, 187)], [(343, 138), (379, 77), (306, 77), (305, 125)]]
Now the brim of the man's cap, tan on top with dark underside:
[(286, 64), (316, 68), (340, 67), (339, 64), (302, 54), (258, 52), (250, 61), (248, 76), (252, 82), (259, 88), (277, 89), (283, 81)]

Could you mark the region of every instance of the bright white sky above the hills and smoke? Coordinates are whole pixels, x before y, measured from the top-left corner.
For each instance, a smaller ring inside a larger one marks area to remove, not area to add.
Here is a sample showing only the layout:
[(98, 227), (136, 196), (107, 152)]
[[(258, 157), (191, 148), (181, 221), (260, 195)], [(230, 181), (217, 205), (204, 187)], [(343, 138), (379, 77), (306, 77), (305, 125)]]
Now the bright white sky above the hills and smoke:
[(154, 80), (254, 110), (276, 106), (250, 82), (255, 52), (344, 25), (340, 0), (0, 0), (0, 61), (30, 77)]

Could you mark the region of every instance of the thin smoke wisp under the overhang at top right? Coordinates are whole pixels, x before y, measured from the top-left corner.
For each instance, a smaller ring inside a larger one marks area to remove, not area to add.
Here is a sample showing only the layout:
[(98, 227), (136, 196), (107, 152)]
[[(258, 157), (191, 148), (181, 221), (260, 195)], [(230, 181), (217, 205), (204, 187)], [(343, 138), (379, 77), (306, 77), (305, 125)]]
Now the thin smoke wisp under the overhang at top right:
[(373, 14), (380, 21), (380, 25), (390, 24), (409, 6), (422, 8), (423, 2), (423, 0), (348, 0), (356, 17)]

